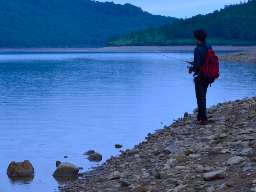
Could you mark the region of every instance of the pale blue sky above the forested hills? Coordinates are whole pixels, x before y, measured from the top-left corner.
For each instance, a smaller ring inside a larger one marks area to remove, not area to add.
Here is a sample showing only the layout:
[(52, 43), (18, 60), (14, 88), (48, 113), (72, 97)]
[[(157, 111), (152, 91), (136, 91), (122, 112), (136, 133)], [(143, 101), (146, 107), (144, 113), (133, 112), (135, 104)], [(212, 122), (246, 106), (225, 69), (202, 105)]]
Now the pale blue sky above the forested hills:
[[(95, 0), (106, 2), (107, 0)], [(239, 4), (244, 0), (108, 0), (115, 4), (133, 4), (153, 15), (164, 15), (176, 18), (188, 18), (198, 14), (205, 15), (215, 10), (224, 9), (224, 5)], [(245, 0), (247, 3), (248, 0)]]

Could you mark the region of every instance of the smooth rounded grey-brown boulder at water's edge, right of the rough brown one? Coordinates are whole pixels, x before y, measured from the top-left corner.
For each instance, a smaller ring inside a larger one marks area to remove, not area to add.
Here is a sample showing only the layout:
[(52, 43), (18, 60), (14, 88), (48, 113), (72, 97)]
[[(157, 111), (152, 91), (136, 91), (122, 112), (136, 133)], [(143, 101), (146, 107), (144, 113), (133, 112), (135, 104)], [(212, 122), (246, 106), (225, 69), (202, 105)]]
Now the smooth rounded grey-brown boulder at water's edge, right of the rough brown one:
[(79, 169), (73, 164), (63, 162), (58, 165), (55, 172), (52, 174), (53, 177), (73, 177), (78, 173)]

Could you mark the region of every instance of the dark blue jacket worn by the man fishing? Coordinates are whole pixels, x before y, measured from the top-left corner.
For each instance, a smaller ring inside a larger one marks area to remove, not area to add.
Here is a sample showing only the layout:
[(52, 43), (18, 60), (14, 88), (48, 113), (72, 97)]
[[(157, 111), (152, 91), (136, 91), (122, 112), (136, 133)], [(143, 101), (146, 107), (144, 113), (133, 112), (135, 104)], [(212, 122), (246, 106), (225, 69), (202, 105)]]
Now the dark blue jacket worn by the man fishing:
[(212, 49), (212, 47), (205, 42), (200, 43), (194, 50), (194, 65), (192, 68), (190, 68), (191, 71), (195, 71), (193, 76), (200, 76), (199, 73), (199, 66), (202, 66), (204, 64), (204, 61), (206, 59), (206, 53), (207, 50), (203, 46), (205, 45), (208, 49)]

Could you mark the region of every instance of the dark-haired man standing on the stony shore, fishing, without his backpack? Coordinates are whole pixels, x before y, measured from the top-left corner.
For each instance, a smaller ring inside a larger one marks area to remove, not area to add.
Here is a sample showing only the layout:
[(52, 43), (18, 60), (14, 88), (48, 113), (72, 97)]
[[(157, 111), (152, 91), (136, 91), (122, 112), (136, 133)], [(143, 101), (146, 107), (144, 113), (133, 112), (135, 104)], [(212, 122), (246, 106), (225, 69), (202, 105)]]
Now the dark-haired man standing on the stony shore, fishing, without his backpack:
[(203, 29), (198, 29), (194, 32), (195, 41), (198, 46), (194, 50), (194, 61), (190, 62), (192, 67), (188, 70), (189, 74), (191, 74), (193, 71), (195, 72), (193, 77), (198, 108), (197, 118), (194, 120), (195, 124), (208, 123), (208, 118), (206, 115), (206, 92), (209, 83), (206, 82), (203, 79), (202, 74), (200, 75), (199, 73), (199, 67), (204, 64), (207, 55), (207, 49), (204, 46), (206, 46), (208, 49), (212, 49), (210, 45), (205, 43), (206, 36), (207, 34)]

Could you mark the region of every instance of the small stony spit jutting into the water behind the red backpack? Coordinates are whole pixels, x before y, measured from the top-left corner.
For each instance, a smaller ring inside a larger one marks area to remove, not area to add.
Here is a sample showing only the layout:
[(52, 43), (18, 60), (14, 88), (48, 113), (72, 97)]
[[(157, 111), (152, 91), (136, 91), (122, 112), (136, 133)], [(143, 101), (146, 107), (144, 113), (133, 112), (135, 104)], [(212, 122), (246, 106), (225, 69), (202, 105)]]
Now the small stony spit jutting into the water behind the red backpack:
[(220, 61), (256, 63), (256, 51), (243, 51), (218, 54)]

